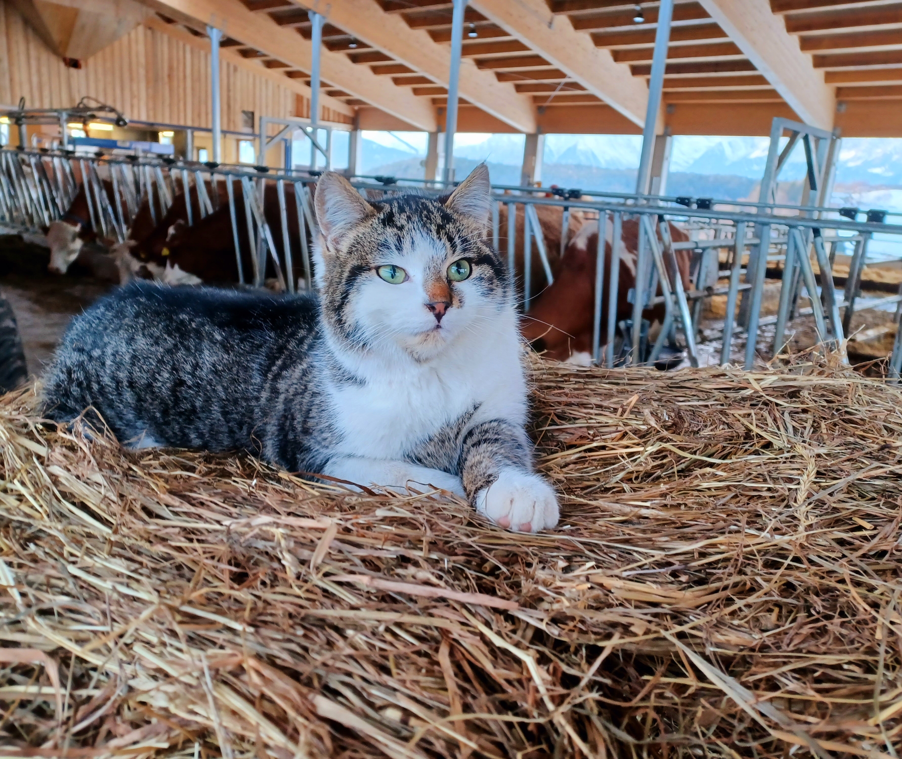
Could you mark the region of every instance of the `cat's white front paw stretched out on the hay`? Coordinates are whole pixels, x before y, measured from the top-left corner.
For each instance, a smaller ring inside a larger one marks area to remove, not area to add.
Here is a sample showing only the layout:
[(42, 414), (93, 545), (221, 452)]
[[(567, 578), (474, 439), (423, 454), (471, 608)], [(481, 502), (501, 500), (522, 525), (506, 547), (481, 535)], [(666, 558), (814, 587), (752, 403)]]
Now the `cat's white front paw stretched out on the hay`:
[(502, 469), (491, 486), (476, 494), (476, 510), (515, 532), (538, 532), (557, 524), (557, 495), (538, 475)]

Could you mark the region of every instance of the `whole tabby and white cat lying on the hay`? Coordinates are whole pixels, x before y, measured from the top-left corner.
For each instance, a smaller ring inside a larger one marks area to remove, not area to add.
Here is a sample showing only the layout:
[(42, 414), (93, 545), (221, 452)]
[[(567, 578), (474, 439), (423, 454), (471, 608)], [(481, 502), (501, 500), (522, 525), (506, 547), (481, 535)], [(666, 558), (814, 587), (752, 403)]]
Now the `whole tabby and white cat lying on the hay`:
[(484, 243), (491, 204), (484, 165), (450, 197), (373, 203), (327, 172), (318, 295), (121, 288), (73, 319), (45, 413), (92, 407), (136, 448), (249, 449), (357, 485), (444, 488), (512, 530), (554, 527), (511, 281)]

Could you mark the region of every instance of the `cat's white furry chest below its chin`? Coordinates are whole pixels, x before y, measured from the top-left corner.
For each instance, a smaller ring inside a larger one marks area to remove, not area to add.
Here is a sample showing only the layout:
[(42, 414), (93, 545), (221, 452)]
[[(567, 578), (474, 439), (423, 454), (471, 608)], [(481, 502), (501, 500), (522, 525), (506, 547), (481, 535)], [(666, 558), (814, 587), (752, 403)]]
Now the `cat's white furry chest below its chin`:
[(435, 366), (396, 366), (365, 385), (332, 391), (345, 455), (401, 458), (479, 407), (485, 419), (522, 422), (526, 386), (516, 338), (495, 350), (460, 351)]

